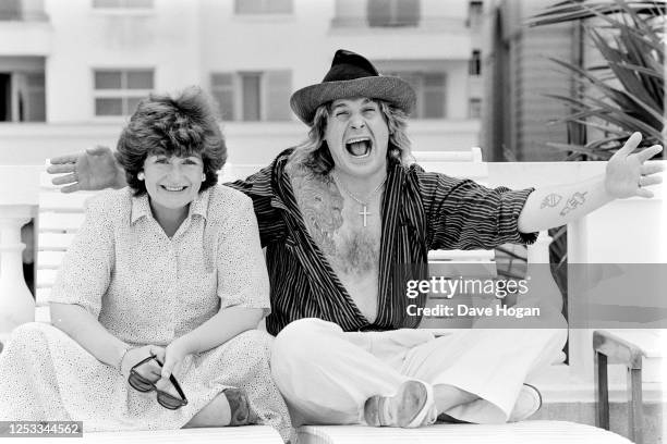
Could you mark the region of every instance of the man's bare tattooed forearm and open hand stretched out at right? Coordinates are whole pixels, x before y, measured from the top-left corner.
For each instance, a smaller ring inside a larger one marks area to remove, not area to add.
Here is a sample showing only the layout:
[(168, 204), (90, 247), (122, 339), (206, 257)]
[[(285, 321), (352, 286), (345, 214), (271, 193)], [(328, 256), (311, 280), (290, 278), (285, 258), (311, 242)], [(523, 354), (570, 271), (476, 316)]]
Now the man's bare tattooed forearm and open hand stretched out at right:
[(603, 175), (578, 184), (544, 187), (531, 193), (519, 214), (519, 231), (531, 233), (565, 225), (614, 199), (653, 197), (653, 193), (644, 187), (663, 182), (655, 174), (663, 171), (664, 166), (645, 162), (660, 152), (663, 147), (654, 145), (632, 153), (641, 140), (642, 135), (634, 133), (609, 159)]

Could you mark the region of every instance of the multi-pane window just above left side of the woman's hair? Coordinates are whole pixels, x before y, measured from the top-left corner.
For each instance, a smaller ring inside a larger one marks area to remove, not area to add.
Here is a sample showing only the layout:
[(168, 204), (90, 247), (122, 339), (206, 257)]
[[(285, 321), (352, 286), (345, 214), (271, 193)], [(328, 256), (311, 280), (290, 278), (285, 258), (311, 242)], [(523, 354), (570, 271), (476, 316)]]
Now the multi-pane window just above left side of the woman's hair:
[(95, 115), (130, 115), (154, 88), (153, 70), (95, 70)]

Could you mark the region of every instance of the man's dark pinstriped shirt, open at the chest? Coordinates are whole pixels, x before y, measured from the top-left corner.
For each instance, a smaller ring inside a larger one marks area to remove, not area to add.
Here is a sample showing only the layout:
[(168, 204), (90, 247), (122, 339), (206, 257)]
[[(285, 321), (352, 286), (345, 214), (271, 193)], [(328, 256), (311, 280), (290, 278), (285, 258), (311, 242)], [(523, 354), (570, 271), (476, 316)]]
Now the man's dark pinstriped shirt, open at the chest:
[(429, 250), (489, 249), (530, 244), (537, 236), (518, 230), (519, 213), (533, 188), (492, 189), (416, 164), (390, 163), (381, 202), (378, 312), (369, 324), (308, 235), (284, 171), (290, 152), (229, 184), (254, 202), (271, 285), (266, 321), (271, 334), (301, 318), (336, 322), (343, 331), (416, 328), (421, 319), (408, 316), (405, 308), (425, 300), (408, 299), (404, 283), (427, 279)]

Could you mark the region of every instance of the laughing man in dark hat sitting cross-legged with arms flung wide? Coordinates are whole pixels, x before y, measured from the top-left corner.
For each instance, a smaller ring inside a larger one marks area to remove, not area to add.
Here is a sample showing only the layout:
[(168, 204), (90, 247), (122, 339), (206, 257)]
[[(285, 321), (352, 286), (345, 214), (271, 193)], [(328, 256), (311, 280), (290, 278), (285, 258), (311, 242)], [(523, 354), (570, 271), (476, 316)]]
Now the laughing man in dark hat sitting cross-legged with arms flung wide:
[[(230, 186), (254, 201), (271, 280), (267, 330), (278, 334), (272, 374), (296, 422), (420, 427), (438, 415), (468, 422), (520, 420), (539, 407), (524, 384), (565, 342), (551, 329), (462, 330), (435, 338), (413, 330), (404, 287), (424, 278), (430, 249), (534, 242), (615, 198), (651, 197), (654, 146), (634, 134), (606, 174), (583, 183), (511, 192), (424, 172), (405, 136), (412, 88), (363, 57), (336, 52), (320, 84), (292, 95), (308, 139)], [(122, 186), (109, 150), (53, 159), (66, 190)], [(76, 182), (72, 184), (72, 182)], [(399, 271), (401, 266), (408, 271)], [(521, 301), (519, 301), (521, 304)], [(411, 328), (411, 329), (403, 329)]]

